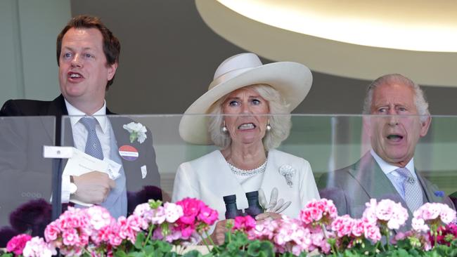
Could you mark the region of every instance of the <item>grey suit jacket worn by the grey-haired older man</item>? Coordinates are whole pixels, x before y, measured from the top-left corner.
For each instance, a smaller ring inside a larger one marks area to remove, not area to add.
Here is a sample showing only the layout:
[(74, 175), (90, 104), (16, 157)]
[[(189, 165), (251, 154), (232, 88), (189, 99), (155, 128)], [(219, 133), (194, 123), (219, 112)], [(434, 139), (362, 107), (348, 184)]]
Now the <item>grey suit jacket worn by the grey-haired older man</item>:
[[(420, 185), (425, 192), (424, 202), (444, 202), (455, 209), (448, 197), (435, 195), (437, 187), (432, 185), (416, 172)], [(401, 202), (406, 209), (408, 206), (401, 198), (389, 178), (381, 170), (378, 163), (367, 152), (359, 162), (330, 173), (324, 173), (318, 180), (319, 193), (322, 198), (332, 199), (337, 207), (338, 214), (349, 214), (353, 218), (360, 218), (365, 210), (366, 202), (374, 198), (392, 199)], [(408, 210), (409, 219), (413, 213)]]

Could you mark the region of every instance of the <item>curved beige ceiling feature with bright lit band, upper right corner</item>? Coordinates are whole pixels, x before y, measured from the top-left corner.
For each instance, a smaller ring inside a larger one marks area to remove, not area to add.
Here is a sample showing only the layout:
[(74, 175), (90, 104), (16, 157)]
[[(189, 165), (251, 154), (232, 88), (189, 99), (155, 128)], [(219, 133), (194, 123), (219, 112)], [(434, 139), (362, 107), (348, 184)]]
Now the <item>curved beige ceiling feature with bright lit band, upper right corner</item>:
[(271, 60), (356, 79), (401, 73), (457, 86), (457, 1), (195, 2), (214, 32)]

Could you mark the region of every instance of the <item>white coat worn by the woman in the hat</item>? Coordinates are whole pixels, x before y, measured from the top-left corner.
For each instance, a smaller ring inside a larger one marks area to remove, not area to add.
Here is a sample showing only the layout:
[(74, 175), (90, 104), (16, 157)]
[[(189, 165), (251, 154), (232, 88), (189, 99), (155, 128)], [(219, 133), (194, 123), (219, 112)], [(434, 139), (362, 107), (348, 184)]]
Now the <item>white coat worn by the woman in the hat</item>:
[[(285, 165), (295, 169), (292, 185), (288, 185), (279, 171)], [(200, 199), (218, 211), (219, 220), (224, 220), (226, 208), (222, 197), (226, 195), (236, 195), (238, 209), (246, 209), (245, 192), (262, 188), (269, 199), (271, 190), (276, 187), (279, 192), (278, 199), (283, 198), (285, 202), (292, 202), (288, 209), (282, 212), (292, 218), (298, 217), (300, 210), (309, 200), (320, 198), (309, 162), (292, 154), (270, 150), (263, 176), (258, 176), (254, 181), (258, 179), (261, 180), (259, 183), (241, 185), (224, 156), (216, 150), (179, 166), (174, 179), (172, 202), (185, 197)], [(253, 188), (258, 187), (256, 184), (260, 185), (257, 189)]]

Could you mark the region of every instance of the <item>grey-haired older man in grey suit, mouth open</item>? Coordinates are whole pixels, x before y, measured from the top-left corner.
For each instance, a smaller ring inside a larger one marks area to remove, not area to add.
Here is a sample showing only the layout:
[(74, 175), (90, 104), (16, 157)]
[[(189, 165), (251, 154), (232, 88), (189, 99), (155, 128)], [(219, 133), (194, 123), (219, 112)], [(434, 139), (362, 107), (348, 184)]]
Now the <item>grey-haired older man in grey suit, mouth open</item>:
[(425, 202), (454, 208), (414, 167), (416, 145), (431, 121), (420, 87), (401, 74), (382, 76), (368, 86), (363, 114), (375, 115), (363, 119), (372, 150), (351, 166), (323, 174), (321, 197), (333, 199), (340, 215), (353, 218), (362, 216), (372, 198), (401, 202), (410, 217)]

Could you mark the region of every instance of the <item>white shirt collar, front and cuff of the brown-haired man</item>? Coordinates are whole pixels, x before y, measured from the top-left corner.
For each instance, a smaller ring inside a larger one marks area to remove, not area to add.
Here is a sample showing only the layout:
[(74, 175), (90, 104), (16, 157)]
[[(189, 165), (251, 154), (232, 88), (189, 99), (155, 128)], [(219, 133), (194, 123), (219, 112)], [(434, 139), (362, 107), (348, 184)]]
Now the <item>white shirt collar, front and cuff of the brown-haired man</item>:
[[(72, 126), (73, 143), (78, 150), (84, 152), (86, 150), (87, 141), (87, 129), (79, 122), (84, 116), (87, 116), (84, 112), (78, 110), (75, 106), (71, 105), (65, 99), (65, 106), (67, 107), (68, 115), (70, 116), (70, 124)], [(106, 101), (100, 110), (96, 111), (91, 116), (97, 120), (96, 133), (98, 140), (100, 140), (103, 157), (110, 158), (111, 153), (111, 124), (106, 115)], [(64, 133), (65, 135), (65, 133)], [(62, 202), (66, 203), (70, 201), (70, 176), (62, 176)]]

